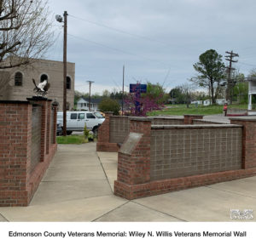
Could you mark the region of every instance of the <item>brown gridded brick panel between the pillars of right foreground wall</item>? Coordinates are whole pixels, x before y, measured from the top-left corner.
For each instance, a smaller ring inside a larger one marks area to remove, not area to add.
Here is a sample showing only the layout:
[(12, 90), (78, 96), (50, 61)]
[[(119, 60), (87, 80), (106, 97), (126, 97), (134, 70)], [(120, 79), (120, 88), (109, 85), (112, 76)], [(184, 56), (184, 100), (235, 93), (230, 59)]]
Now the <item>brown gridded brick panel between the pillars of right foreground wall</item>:
[(241, 169), (241, 126), (153, 126), (151, 180)]

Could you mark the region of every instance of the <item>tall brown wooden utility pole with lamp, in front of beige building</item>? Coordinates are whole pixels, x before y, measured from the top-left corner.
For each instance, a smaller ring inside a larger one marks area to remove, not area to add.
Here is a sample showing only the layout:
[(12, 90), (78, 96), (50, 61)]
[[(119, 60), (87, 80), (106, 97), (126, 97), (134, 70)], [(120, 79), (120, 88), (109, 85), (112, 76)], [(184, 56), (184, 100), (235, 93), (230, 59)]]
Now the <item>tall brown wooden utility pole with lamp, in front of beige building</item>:
[(56, 15), (55, 19), (62, 23), (64, 22), (64, 41), (63, 41), (63, 136), (67, 136), (67, 11), (64, 11), (64, 21), (61, 15)]

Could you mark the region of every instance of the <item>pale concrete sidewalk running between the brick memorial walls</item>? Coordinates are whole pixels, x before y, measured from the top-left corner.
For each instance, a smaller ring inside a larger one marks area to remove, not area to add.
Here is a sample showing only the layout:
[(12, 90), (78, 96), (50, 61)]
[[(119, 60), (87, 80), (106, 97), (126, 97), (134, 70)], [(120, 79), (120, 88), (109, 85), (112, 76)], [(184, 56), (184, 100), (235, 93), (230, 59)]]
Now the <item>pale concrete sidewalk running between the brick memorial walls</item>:
[(58, 145), (30, 206), (0, 208), (0, 221), (235, 221), (230, 209), (256, 212), (256, 177), (128, 201), (113, 195), (116, 173), (117, 153)]

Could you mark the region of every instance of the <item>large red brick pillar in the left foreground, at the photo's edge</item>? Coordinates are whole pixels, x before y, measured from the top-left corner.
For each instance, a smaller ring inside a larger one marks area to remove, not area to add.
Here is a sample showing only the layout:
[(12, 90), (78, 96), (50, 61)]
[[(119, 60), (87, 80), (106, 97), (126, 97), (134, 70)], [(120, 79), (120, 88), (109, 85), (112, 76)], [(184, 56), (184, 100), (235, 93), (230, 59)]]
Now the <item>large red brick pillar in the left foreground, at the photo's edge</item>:
[(32, 105), (0, 102), (0, 207), (28, 204)]

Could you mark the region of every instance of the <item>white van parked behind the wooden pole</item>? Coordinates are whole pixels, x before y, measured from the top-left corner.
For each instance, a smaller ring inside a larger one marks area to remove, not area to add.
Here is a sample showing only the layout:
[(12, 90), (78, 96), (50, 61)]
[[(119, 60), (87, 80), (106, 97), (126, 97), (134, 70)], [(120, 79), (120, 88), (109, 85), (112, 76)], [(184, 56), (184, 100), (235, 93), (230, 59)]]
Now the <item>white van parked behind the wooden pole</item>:
[[(97, 132), (99, 126), (104, 122), (105, 118), (98, 111), (67, 111), (67, 134), (73, 131), (84, 131), (86, 128)], [(63, 126), (63, 112), (57, 113), (57, 124)]]

